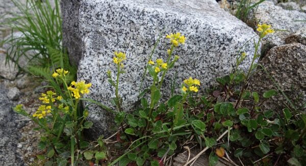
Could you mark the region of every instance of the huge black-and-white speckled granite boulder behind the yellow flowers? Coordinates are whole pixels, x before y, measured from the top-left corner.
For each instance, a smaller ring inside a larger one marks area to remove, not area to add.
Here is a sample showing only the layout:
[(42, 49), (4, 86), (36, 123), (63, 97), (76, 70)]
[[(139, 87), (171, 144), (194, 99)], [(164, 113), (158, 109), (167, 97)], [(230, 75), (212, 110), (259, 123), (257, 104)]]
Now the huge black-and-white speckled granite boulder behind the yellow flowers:
[[(216, 77), (231, 71), (236, 62), (235, 55), (244, 43), (254, 36), (255, 40), (258, 39), (250, 27), (220, 9), (214, 0), (84, 0), (75, 4), (62, 1), (62, 5), (67, 5), (62, 6), (64, 34), (69, 36), (72, 31), (77, 34), (75, 38), (67, 39), (68, 46), (72, 47), (69, 49), (81, 49), (83, 52), (78, 79), (92, 82), (91, 92), (86, 97), (111, 105), (110, 98), (114, 97), (115, 89), (107, 81), (106, 71), (116, 70), (112, 62), (115, 50), (126, 52), (127, 72), (120, 77), (124, 110), (131, 109), (138, 100), (144, 65), (164, 27), (164, 34), (181, 32), (187, 38), (186, 44), (175, 50), (181, 59), (167, 75), (164, 90), (169, 89), (170, 79), (177, 72), (178, 84), (189, 76), (197, 77), (202, 82), (200, 90), (203, 91), (214, 84)], [(67, 15), (75, 11), (79, 11), (75, 14), (77, 17)], [(71, 41), (74, 39), (79, 40)], [(166, 59), (168, 48), (169, 41), (163, 37), (153, 59)], [(252, 42), (246, 45), (245, 51), (253, 53)], [(79, 59), (79, 55), (72, 54), (76, 56), (75, 59)], [(249, 56), (242, 68), (247, 68), (250, 61)], [(144, 87), (148, 84), (150, 81), (145, 81)], [(169, 91), (162, 93), (165, 98)], [(112, 131), (109, 131), (109, 126), (113, 118), (97, 106), (90, 106), (89, 110), (89, 120), (94, 122), (91, 133), (95, 136), (110, 134)]]

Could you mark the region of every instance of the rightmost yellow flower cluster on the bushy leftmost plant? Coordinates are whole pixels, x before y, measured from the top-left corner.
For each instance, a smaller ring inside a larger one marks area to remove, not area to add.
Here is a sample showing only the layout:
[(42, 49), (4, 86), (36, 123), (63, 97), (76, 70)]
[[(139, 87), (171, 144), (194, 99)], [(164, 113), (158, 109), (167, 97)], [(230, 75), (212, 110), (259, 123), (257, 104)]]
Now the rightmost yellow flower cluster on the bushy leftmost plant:
[(71, 95), (75, 99), (78, 99), (78, 98), (81, 97), (80, 93), (81, 94), (88, 94), (90, 87), (91, 87), (91, 83), (85, 84), (84, 80), (81, 80), (79, 82), (72, 81), (71, 86), (68, 87), (68, 90), (71, 91)]

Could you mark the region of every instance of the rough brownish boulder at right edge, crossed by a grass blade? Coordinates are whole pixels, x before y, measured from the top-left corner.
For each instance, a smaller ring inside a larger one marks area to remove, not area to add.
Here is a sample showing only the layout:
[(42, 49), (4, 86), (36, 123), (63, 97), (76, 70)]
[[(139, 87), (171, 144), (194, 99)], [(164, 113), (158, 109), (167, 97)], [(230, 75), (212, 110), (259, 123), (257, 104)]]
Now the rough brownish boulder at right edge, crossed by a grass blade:
[[(305, 45), (293, 43), (273, 47), (261, 63), (297, 107), (306, 101)], [(250, 89), (259, 94), (270, 89), (277, 90), (263, 70), (254, 74), (251, 81)], [(265, 110), (273, 109), (279, 112), (286, 107), (284, 103), (289, 104), (283, 95), (278, 94), (272, 97), (272, 100), (264, 102), (263, 107)]]

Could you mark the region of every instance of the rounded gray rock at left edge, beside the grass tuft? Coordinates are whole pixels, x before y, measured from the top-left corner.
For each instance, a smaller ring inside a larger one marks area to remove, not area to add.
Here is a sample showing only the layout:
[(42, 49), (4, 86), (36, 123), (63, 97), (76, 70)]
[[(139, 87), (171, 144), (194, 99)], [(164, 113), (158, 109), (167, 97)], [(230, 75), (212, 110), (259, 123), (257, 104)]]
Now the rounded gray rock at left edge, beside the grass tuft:
[(0, 76), (13, 80), (18, 73), (18, 67), (14, 62), (8, 60), (6, 61), (6, 51), (0, 49)]

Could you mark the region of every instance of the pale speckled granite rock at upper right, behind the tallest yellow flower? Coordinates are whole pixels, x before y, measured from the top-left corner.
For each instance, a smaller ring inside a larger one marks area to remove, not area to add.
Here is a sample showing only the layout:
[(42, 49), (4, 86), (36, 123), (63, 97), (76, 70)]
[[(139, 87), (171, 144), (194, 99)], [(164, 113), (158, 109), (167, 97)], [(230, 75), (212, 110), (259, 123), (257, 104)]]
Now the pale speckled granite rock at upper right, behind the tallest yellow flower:
[(285, 38), (289, 34), (306, 26), (305, 21), (295, 21), (306, 20), (306, 13), (295, 10), (285, 10), (281, 7), (274, 6), (272, 2), (263, 2), (260, 4), (257, 12), (253, 16), (259, 23), (271, 24), (273, 29), (286, 30), (277, 31), (274, 35), (270, 35), (266, 38), (266, 41), (271, 46), (285, 44)]

